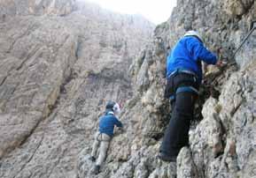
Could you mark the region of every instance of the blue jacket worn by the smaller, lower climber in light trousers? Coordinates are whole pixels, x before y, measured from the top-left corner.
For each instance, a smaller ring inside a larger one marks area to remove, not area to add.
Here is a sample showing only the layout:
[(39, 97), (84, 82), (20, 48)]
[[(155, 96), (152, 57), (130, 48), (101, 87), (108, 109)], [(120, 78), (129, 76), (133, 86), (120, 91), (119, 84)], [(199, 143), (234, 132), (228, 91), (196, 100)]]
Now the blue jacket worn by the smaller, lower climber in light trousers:
[(105, 133), (112, 137), (115, 125), (117, 127), (122, 127), (122, 123), (114, 115), (112, 115), (112, 112), (107, 112), (104, 116), (100, 118), (99, 132)]

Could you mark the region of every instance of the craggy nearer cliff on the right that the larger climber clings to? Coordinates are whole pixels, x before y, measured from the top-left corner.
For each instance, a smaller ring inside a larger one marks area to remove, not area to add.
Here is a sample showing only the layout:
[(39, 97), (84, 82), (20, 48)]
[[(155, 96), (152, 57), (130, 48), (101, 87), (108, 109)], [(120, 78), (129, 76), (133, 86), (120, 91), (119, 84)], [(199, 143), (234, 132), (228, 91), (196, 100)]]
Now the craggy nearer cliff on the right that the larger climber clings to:
[[(154, 40), (130, 67), (136, 93), (121, 117), (127, 132), (112, 142), (121, 153), (112, 151), (108, 158), (110, 177), (256, 176), (255, 32), (233, 57), (255, 11), (254, 1), (177, 1), (171, 18), (156, 27)], [(165, 58), (167, 48), (189, 29), (204, 34), (206, 46), (229, 64), (223, 69), (207, 67), (198, 104), (204, 105), (203, 120), (191, 128), (190, 148), (182, 149), (177, 164), (167, 164), (156, 159), (170, 117), (163, 100)], [(115, 168), (117, 160), (120, 168)]]

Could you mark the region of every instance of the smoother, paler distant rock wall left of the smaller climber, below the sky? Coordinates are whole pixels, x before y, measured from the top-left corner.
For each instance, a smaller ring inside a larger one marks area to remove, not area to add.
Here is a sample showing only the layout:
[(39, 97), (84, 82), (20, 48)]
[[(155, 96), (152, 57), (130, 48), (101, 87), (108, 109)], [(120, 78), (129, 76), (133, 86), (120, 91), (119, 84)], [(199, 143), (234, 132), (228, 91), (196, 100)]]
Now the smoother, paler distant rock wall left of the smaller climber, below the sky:
[(0, 177), (76, 177), (106, 100), (131, 97), (128, 66), (154, 26), (73, 1), (0, 4)]

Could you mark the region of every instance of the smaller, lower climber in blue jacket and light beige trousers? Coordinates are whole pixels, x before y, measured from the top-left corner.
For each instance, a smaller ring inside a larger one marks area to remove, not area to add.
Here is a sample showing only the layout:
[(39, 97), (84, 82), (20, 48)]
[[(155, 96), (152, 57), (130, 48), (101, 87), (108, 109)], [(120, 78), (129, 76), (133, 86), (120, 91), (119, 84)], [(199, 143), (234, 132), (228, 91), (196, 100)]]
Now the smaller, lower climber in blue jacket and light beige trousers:
[(95, 135), (95, 141), (92, 147), (91, 157), (92, 161), (96, 161), (97, 149), (99, 149), (99, 154), (97, 157), (96, 166), (94, 167), (93, 173), (98, 174), (100, 167), (103, 164), (110, 141), (113, 137), (114, 127), (122, 128), (122, 123), (117, 119), (120, 113), (120, 106), (118, 103), (113, 101), (108, 101), (105, 107), (105, 115), (100, 118), (99, 129)]

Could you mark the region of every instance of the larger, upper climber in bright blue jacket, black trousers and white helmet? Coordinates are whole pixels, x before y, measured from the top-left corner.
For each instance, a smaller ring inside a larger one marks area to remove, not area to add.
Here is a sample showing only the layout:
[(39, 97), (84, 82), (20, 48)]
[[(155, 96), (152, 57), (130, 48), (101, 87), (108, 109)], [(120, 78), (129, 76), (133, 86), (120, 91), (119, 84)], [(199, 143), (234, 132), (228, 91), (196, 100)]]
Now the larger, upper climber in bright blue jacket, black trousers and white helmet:
[(171, 100), (172, 117), (159, 149), (159, 159), (176, 161), (183, 146), (189, 145), (190, 120), (202, 81), (202, 65), (221, 65), (211, 51), (204, 47), (196, 31), (189, 31), (167, 56), (167, 86), (165, 97)]

